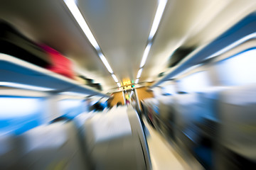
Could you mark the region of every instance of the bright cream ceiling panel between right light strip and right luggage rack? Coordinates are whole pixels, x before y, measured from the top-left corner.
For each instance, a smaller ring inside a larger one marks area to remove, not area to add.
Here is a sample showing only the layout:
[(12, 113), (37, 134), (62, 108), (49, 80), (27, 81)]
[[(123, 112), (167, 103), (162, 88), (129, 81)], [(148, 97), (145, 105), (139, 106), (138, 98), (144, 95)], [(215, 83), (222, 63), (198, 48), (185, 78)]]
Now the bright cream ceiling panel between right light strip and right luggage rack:
[(169, 70), (171, 54), (178, 47), (206, 45), (255, 10), (253, 0), (169, 1), (140, 81), (156, 80)]

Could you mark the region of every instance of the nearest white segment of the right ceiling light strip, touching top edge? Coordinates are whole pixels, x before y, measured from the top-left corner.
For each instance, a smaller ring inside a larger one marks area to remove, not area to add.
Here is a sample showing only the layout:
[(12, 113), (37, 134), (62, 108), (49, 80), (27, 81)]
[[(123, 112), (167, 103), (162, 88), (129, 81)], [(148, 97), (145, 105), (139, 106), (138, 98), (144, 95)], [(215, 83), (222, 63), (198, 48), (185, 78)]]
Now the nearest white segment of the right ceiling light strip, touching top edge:
[(157, 9), (156, 9), (156, 15), (154, 17), (154, 21), (149, 33), (149, 40), (151, 40), (156, 34), (156, 30), (159, 27), (159, 23), (161, 21), (161, 17), (163, 16), (166, 3), (167, 3), (167, 0), (159, 0), (159, 5), (157, 6)]

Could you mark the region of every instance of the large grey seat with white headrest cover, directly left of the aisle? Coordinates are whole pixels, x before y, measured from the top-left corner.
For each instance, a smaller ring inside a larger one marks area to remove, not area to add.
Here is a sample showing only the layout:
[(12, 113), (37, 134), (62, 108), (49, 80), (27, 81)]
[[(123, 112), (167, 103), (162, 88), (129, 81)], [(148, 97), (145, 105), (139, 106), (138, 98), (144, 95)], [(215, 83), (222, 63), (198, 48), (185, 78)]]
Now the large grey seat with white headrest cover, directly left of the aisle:
[(126, 106), (85, 120), (85, 145), (95, 169), (146, 169), (143, 140), (131, 121), (136, 120)]

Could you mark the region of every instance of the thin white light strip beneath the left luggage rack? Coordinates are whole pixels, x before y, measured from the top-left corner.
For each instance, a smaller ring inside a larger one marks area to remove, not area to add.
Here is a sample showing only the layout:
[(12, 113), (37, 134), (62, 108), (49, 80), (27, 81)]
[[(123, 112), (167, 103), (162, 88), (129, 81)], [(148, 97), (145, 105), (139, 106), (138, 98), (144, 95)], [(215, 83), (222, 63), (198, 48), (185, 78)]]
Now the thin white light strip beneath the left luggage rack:
[(41, 86), (31, 86), (31, 85), (17, 84), (17, 83), (6, 82), (6, 81), (1, 81), (0, 86), (9, 86), (9, 87), (14, 87), (18, 89), (28, 89), (28, 90), (35, 90), (35, 91), (52, 91), (53, 90), (53, 89), (45, 88)]

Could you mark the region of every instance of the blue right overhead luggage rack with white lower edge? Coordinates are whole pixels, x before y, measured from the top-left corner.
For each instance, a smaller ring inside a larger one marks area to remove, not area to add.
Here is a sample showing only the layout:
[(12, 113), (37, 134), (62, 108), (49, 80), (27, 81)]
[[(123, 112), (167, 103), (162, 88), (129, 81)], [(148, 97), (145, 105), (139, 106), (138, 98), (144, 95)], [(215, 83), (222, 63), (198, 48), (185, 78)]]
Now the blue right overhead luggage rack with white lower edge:
[(234, 26), (226, 30), (223, 34), (219, 35), (212, 42), (202, 45), (196, 48), (193, 52), (190, 52), (186, 57), (183, 57), (174, 67), (169, 69), (164, 77), (159, 78), (151, 85), (151, 89), (159, 86), (164, 81), (169, 81), (181, 74), (184, 70), (200, 65), (206, 60), (210, 60), (214, 57), (224, 54), (234, 47), (241, 45), (249, 40), (255, 40), (256, 38), (256, 13), (250, 13)]

